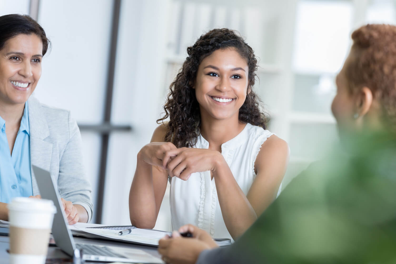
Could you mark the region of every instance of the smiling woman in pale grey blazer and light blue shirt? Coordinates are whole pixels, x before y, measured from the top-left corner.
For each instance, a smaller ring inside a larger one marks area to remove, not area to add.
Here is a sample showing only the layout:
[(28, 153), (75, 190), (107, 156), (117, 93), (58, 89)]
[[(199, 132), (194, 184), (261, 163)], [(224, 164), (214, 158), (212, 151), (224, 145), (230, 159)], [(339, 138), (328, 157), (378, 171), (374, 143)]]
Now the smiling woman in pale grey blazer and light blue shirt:
[(0, 219), (18, 196), (40, 198), (32, 165), (51, 173), (69, 224), (88, 222), (91, 187), (82, 165), (81, 135), (67, 110), (32, 97), (49, 40), (27, 15), (0, 17)]

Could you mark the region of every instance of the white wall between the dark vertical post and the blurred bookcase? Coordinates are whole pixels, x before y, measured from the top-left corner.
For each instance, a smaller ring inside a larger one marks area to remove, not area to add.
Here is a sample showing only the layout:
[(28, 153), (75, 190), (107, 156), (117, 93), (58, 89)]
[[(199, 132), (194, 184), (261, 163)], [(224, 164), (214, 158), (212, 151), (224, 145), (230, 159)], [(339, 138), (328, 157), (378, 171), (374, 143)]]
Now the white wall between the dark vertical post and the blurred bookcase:
[(159, 117), (167, 8), (166, 0), (122, 1), (111, 118), (130, 123), (133, 132), (110, 137), (104, 223), (130, 223), (128, 194), (136, 155), (150, 142)]

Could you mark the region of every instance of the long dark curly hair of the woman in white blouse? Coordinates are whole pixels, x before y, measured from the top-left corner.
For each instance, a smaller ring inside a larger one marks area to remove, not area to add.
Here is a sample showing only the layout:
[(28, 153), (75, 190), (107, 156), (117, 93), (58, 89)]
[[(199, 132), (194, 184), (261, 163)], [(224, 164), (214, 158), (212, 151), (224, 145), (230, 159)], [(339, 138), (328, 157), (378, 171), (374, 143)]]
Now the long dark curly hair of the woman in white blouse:
[[(236, 31), (216, 28), (200, 36), (192, 47), (187, 48), (188, 57), (169, 87), (164, 116), (157, 120), (157, 123), (163, 123), (169, 117), (164, 138), (166, 142), (172, 142), (177, 148), (192, 147), (196, 144), (201, 126), (200, 107), (192, 88), (196, 73), (203, 59), (217, 49), (227, 48), (235, 49), (246, 59), (249, 67), (248, 89), (253, 87), (257, 76), (257, 59), (253, 49)], [(260, 110), (260, 105), (259, 97), (251, 91), (239, 109), (239, 121), (265, 129), (267, 120)]]

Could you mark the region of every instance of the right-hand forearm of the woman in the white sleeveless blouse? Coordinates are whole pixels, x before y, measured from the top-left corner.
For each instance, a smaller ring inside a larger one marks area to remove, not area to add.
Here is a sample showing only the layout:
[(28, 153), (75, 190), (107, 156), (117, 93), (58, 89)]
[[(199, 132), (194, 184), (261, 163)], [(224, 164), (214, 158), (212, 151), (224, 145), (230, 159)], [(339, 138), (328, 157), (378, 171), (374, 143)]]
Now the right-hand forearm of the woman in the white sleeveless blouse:
[(219, 159), (216, 164), (213, 177), (221, 214), (228, 232), (235, 240), (257, 220), (257, 215), (232, 175), (227, 162)]

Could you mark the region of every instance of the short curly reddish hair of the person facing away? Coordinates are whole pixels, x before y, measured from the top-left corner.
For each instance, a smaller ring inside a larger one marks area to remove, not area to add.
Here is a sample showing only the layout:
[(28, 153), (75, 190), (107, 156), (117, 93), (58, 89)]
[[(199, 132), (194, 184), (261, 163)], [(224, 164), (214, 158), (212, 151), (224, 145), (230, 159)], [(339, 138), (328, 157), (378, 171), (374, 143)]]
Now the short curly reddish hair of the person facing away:
[(383, 121), (396, 131), (396, 27), (369, 24), (352, 33), (354, 55), (346, 67), (351, 92), (364, 86), (383, 107)]

